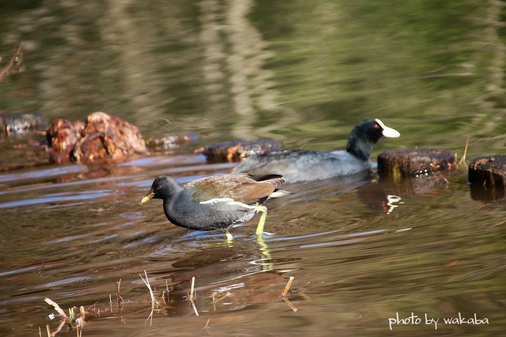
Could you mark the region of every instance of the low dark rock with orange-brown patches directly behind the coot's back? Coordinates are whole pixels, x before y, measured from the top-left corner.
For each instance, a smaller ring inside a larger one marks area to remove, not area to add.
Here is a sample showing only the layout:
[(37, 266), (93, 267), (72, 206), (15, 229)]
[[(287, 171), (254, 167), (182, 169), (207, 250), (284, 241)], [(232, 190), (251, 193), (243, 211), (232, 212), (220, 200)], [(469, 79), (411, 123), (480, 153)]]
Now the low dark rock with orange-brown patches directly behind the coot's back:
[(195, 152), (203, 153), (209, 162), (234, 162), (252, 155), (269, 153), (279, 149), (279, 143), (275, 140), (257, 139), (215, 143), (197, 149)]

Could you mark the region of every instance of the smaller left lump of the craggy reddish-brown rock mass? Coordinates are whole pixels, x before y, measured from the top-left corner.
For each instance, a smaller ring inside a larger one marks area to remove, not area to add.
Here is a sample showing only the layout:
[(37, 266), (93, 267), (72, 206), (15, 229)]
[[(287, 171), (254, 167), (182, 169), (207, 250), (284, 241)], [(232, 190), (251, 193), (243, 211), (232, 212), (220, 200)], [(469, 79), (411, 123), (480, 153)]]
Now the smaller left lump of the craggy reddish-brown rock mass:
[(80, 120), (55, 119), (53, 121), (46, 132), (51, 162), (62, 164), (72, 160), (71, 153), (82, 138), (85, 126), (85, 123)]

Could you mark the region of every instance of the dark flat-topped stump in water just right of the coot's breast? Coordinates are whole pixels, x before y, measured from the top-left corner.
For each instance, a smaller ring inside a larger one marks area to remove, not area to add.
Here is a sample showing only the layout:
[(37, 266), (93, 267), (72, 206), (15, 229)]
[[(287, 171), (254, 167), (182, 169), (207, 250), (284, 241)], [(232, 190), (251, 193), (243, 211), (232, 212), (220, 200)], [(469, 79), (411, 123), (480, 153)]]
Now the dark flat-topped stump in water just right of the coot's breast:
[(449, 171), (455, 160), (455, 154), (448, 150), (387, 150), (378, 155), (378, 174), (394, 180), (401, 177), (430, 176), (437, 171)]

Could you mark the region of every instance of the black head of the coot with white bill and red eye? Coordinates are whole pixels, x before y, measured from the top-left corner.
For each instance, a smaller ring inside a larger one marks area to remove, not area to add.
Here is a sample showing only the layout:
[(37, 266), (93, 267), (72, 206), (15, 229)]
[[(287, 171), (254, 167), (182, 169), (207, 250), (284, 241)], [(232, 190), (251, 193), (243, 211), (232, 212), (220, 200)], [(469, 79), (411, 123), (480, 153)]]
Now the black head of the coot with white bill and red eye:
[(388, 128), (379, 119), (365, 119), (355, 125), (350, 133), (346, 150), (354, 156), (369, 160), (372, 146), (385, 137), (397, 138), (400, 134), (392, 128)]

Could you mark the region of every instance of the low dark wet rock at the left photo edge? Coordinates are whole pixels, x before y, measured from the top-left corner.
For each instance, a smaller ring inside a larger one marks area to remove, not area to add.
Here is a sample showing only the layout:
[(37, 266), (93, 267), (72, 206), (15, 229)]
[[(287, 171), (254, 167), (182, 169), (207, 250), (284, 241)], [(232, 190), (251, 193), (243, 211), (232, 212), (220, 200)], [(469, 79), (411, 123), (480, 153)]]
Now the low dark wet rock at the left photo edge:
[(40, 130), (46, 124), (46, 118), (40, 113), (0, 111), (0, 135), (23, 135)]

